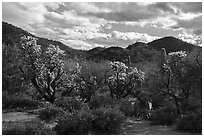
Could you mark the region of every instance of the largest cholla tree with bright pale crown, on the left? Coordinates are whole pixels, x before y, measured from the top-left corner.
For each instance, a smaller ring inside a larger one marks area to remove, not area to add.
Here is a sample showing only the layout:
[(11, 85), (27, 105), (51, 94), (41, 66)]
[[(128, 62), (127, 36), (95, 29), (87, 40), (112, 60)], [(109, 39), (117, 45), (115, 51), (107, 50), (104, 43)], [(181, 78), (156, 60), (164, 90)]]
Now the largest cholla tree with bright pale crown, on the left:
[(63, 81), (63, 55), (64, 51), (54, 45), (42, 51), (37, 39), (30, 36), (22, 37), (19, 43), (20, 70), (24, 78), (50, 103), (54, 103), (55, 93)]

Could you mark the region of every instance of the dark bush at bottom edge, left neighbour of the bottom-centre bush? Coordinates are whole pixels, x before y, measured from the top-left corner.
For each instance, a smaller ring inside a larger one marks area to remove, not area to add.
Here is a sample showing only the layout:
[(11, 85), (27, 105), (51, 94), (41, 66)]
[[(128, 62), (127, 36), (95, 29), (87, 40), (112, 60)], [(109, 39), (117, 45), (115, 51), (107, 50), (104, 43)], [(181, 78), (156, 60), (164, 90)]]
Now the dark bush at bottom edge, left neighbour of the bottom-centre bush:
[(58, 135), (88, 135), (92, 118), (89, 110), (69, 113), (59, 118), (54, 130)]

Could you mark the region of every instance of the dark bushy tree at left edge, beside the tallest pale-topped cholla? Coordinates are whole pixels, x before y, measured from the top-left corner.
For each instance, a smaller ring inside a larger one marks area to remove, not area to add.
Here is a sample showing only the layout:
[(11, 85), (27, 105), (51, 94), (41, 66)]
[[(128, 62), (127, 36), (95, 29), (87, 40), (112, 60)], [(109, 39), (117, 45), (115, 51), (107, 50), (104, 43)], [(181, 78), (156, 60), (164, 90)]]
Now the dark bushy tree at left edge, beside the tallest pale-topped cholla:
[(9, 93), (17, 93), (24, 90), (25, 81), (23, 81), (19, 70), (17, 46), (2, 45), (2, 89)]

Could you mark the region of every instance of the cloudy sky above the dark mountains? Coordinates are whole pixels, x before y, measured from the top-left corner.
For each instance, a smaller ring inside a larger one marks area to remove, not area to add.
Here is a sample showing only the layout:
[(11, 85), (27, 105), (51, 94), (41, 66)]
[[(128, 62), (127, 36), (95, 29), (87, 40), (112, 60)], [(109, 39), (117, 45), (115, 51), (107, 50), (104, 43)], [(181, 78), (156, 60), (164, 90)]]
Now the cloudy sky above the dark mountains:
[(202, 39), (201, 2), (3, 2), (2, 20), (82, 50)]

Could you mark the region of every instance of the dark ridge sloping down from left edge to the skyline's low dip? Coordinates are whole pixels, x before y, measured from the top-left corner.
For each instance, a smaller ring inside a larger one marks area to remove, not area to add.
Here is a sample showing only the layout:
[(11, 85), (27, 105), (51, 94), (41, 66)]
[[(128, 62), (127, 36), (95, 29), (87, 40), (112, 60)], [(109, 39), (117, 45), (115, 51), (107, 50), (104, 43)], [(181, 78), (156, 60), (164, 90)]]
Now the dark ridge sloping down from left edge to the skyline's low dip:
[(53, 45), (58, 45), (60, 49), (64, 50), (67, 57), (71, 57), (71, 58), (74, 58), (74, 57), (85, 58), (86, 57), (85, 51), (70, 48), (69, 46), (66, 46), (63, 43), (58, 42), (58, 41), (48, 40), (46, 38), (34, 36), (21, 28), (18, 28), (6, 22), (2, 22), (2, 43), (4, 44), (18, 43), (21, 40), (21, 37), (24, 35), (33, 36), (33, 37), (38, 38), (37, 43), (39, 45), (42, 45), (43, 49), (46, 48), (48, 45), (53, 44)]

